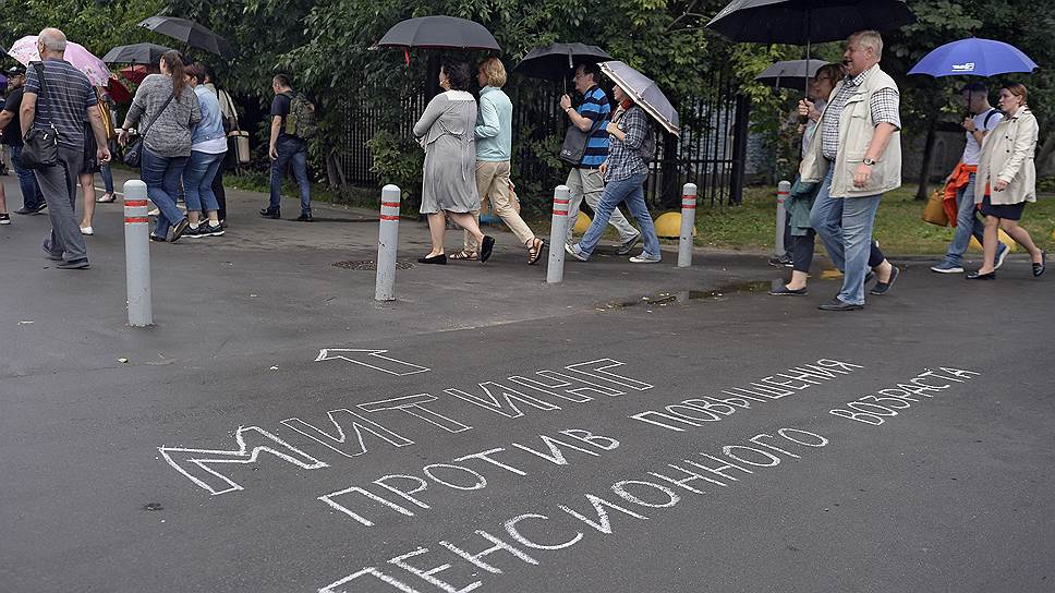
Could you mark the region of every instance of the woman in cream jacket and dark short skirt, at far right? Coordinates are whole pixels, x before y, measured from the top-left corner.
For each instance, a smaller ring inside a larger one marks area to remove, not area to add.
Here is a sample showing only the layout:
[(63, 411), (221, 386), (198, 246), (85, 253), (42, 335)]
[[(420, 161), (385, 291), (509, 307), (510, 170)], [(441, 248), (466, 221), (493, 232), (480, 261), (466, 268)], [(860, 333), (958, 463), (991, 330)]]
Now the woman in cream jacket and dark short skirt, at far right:
[(1004, 229), (1019, 245), (1026, 247), (1033, 263), (1033, 276), (1044, 274), (1045, 252), (1018, 225), (1027, 202), (1036, 202), (1036, 167), (1033, 155), (1040, 126), (1026, 105), (1024, 85), (1015, 83), (1001, 88), (999, 108), (1004, 121), (982, 141), (982, 156), (978, 162), (974, 202), (981, 204), (985, 217), (982, 241), (982, 267), (967, 275), (968, 280), (996, 278), (997, 229)]

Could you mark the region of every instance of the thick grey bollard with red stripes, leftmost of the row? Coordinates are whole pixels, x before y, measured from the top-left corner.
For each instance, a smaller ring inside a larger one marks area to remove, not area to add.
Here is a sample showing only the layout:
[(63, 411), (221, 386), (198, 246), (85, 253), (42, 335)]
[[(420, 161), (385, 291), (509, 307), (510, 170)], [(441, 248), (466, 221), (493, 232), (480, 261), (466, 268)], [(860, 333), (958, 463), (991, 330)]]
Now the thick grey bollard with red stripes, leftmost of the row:
[(154, 325), (150, 296), (150, 218), (146, 183), (124, 182), (124, 268), (129, 287), (129, 325)]

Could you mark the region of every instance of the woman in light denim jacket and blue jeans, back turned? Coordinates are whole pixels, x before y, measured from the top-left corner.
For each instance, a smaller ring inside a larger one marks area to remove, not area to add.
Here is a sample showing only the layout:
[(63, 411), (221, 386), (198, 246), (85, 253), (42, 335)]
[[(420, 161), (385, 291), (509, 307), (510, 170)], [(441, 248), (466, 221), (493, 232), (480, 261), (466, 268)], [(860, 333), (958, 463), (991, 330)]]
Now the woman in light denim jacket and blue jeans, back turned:
[[(183, 194), (186, 199), (186, 216), (190, 225), (184, 233), (187, 239), (198, 237), (219, 237), (223, 234), (218, 216), (219, 206), (213, 192), (213, 180), (227, 155), (227, 134), (223, 132), (220, 101), (216, 94), (205, 87), (205, 69), (202, 64), (191, 64), (187, 78), (197, 96), (202, 110), (202, 121), (191, 134), (191, 158), (183, 169)], [(202, 225), (202, 211), (208, 222)]]

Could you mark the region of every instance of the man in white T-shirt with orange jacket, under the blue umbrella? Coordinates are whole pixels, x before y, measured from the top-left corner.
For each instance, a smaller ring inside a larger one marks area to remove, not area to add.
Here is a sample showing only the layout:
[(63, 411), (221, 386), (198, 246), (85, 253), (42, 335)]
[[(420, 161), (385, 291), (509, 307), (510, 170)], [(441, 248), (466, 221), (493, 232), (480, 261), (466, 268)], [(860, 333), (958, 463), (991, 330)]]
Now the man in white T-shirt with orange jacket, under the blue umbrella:
[[(990, 130), (1004, 119), (999, 109), (994, 109), (989, 102), (989, 89), (982, 83), (970, 83), (963, 87), (963, 101), (971, 117), (963, 118), (963, 130), (967, 134), (967, 145), (963, 156), (953, 172), (945, 179), (946, 195), (950, 191), (956, 193), (956, 232), (949, 241), (945, 258), (931, 266), (931, 271), (938, 274), (962, 274), (963, 253), (971, 243), (971, 235), (982, 244), (982, 233), (985, 225), (974, 215), (974, 173), (978, 171), (978, 159), (982, 154), (982, 140)], [(1001, 243), (996, 252), (998, 269), (1010, 250)]]

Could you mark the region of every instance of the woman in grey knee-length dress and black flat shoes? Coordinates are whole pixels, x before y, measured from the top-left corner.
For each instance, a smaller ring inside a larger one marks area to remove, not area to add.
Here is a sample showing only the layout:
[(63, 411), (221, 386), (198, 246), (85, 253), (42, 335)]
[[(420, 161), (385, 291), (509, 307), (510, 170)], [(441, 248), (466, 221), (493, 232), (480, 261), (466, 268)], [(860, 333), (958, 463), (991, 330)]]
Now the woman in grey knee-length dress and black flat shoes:
[(480, 231), (473, 211), (480, 209), (476, 193), (476, 99), (468, 92), (472, 72), (468, 64), (444, 63), (439, 86), (414, 124), (414, 137), (425, 148), (421, 213), (428, 216), (433, 249), (419, 257), (422, 264), (447, 264), (444, 253), (446, 217), (469, 231), (480, 245), (480, 262), (490, 257), (495, 238)]

